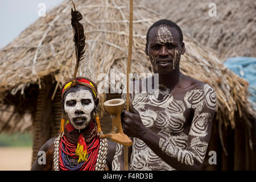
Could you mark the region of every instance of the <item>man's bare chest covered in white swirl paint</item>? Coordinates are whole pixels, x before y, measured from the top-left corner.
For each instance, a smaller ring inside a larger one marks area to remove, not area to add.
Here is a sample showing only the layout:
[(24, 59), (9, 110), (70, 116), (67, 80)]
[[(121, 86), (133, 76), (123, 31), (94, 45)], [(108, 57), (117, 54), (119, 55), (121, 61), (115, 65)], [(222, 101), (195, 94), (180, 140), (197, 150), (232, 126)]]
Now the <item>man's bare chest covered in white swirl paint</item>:
[(193, 110), (185, 105), (184, 100), (175, 99), (171, 94), (158, 98), (153, 94), (138, 94), (134, 97), (133, 106), (138, 110), (143, 124), (156, 133), (160, 130), (181, 133), (190, 128), (193, 118)]

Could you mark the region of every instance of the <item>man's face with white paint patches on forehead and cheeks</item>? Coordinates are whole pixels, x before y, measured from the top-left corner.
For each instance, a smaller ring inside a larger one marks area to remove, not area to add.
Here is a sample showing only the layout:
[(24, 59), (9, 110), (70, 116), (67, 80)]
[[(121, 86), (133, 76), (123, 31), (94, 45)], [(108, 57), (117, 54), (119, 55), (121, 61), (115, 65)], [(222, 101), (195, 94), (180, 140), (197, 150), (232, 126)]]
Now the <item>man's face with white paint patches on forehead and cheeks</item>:
[(168, 74), (179, 68), (184, 43), (180, 43), (179, 32), (174, 27), (159, 26), (151, 29), (146, 45), (154, 73)]

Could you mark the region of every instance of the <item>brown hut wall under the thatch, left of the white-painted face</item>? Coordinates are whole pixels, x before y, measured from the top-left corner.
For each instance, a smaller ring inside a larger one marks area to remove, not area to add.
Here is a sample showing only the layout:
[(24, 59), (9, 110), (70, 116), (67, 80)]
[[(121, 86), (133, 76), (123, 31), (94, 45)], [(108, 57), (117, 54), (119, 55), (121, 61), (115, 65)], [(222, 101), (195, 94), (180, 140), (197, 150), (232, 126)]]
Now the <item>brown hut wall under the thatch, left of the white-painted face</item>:
[(33, 154), (32, 163), (35, 162), (39, 149), (48, 139), (55, 137), (60, 129), (61, 94), (57, 89), (55, 97), (51, 100), (56, 84), (48, 82), (42, 85), (36, 101), (36, 112), (33, 121)]

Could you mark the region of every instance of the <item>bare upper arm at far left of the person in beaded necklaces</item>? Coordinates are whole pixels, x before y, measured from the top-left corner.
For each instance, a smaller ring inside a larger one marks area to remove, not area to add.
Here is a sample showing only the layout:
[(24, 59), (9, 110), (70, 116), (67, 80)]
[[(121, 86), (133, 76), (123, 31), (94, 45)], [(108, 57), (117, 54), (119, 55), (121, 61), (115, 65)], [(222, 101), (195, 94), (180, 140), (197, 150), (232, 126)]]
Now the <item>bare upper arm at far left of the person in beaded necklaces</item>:
[[(56, 137), (49, 139), (40, 149), (40, 151), (45, 152), (46, 156), (46, 164), (39, 164), (39, 158), (43, 155), (38, 155), (36, 158), (34, 164), (32, 164), (31, 171), (49, 171), (52, 169), (52, 160), (53, 160), (53, 151), (54, 151), (54, 140)], [(40, 152), (39, 154), (43, 154), (43, 152)]]

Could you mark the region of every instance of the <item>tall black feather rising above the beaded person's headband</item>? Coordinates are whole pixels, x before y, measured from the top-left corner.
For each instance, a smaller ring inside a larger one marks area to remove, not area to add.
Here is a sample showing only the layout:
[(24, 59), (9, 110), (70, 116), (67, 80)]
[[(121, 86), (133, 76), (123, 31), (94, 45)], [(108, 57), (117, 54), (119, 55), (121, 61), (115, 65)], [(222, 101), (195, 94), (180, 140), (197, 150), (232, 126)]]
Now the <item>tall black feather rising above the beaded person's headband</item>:
[(82, 15), (79, 11), (73, 11), (71, 9), (71, 24), (73, 27), (74, 38), (76, 48), (76, 67), (73, 77), (76, 77), (76, 73), (78, 71), (80, 61), (84, 59), (85, 55), (85, 35), (84, 35), (84, 27), (79, 22), (82, 19)]

